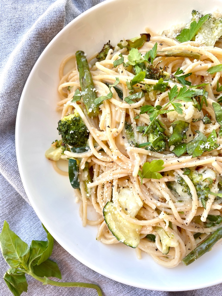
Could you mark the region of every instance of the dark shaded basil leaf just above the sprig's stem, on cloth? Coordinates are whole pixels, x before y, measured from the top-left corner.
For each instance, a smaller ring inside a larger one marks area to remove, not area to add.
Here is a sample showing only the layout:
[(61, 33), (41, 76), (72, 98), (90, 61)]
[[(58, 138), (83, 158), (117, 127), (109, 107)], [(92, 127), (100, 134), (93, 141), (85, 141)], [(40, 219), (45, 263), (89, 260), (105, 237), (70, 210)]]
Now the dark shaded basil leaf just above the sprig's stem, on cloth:
[(40, 277), (56, 277), (58, 279), (62, 279), (61, 272), (56, 262), (47, 259), (42, 262), (40, 265), (33, 266), (33, 272), (35, 275)]

